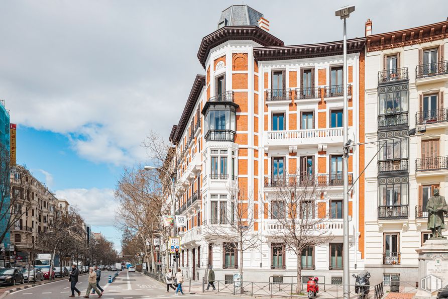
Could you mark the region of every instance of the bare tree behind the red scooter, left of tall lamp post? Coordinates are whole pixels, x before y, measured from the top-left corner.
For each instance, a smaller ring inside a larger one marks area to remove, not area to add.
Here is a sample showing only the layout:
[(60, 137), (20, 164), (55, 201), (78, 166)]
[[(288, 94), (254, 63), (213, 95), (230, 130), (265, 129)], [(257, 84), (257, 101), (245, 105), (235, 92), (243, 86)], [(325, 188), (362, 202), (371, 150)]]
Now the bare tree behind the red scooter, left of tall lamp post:
[(273, 226), (270, 233), (297, 256), (296, 293), (302, 291), (302, 251), (333, 238), (325, 206), (317, 208), (318, 203), (324, 201), (327, 184), (326, 175), (303, 173), (301, 176), (272, 176), (265, 181), (265, 186), (272, 188), (268, 195), (271, 218), (279, 224)]

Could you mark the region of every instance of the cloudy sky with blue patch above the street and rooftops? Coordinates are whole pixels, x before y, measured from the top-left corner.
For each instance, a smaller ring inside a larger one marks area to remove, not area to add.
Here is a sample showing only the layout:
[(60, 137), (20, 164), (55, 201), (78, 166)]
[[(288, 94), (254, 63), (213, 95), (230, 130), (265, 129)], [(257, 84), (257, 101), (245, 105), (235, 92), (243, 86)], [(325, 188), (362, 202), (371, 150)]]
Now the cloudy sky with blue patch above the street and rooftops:
[[(120, 249), (114, 189), (145, 164), (150, 130), (168, 139), (196, 74), (202, 37), (242, 1), (3, 0), (0, 98), (17, 123), (17, 161)], [(244, 1), (286, 45), (342, 39), (334, 11), (355, 5), (348, 37), (446, 20), (446, 1)]]

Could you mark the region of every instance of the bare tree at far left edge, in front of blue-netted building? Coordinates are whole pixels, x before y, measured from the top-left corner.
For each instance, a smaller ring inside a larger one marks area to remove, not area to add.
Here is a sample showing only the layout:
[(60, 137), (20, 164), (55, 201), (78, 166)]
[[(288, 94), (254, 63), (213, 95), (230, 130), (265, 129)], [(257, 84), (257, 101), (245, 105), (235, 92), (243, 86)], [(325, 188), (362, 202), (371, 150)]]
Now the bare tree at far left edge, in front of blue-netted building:
[(25, 166), (10, 165), (10, 154), (0, 143), (0, 244), (11, 227), (31, 207), (35, 179)]

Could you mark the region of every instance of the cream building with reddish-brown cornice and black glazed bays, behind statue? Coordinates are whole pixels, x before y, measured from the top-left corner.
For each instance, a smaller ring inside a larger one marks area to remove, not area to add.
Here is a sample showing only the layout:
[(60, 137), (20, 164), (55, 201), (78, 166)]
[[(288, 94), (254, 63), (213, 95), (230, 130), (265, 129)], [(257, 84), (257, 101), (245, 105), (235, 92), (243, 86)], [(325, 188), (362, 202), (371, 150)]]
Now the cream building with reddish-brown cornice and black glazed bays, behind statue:
[(418, 281), (426, 204), (436, 187), (447, 194), (447, 25), (372, 35), (366, 23), (366, 141), (379, 141), (366, 148), (366, 161), (373, 158), (365, 216), (371, 282)]

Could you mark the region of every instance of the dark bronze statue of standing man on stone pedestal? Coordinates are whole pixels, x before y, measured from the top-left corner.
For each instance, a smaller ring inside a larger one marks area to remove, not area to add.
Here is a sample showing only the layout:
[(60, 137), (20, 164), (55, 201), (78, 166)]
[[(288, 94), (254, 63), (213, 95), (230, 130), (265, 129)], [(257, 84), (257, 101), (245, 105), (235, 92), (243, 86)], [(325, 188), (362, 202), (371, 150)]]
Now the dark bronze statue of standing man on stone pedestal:
[(443, 238), (442, 229), (445, 228), (443, 214), (448, 214), (448, 206), (445, 197), (439, 195), (438, 188), (434, 188), (433, 195), (429, 197), (426, 210), (428, 211), (428, 230), (432, 232), (430, 239)]

